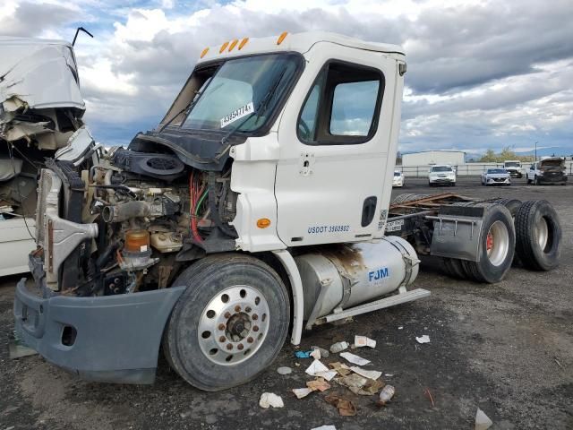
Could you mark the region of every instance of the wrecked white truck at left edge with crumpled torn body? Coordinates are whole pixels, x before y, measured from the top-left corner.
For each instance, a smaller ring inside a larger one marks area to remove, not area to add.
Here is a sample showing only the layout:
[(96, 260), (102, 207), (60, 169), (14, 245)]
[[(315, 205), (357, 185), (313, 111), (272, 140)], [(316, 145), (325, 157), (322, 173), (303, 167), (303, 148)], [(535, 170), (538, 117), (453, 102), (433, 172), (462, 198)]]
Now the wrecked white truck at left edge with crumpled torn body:
[(72, 45), (0, 37), (0, 276), (29, 271), (38, 168), (85, 110)]

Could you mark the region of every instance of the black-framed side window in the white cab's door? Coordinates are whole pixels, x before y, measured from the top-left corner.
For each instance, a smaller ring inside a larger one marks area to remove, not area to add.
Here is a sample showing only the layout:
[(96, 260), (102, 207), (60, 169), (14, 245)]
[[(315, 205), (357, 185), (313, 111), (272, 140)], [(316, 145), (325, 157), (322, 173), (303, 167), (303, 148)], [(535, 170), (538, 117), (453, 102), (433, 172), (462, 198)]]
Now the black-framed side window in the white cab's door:
[(368, 142), (378, 126), (384, 76), (363, 65), (329, 62), (312, 85), (297, 133), (309, 145)]

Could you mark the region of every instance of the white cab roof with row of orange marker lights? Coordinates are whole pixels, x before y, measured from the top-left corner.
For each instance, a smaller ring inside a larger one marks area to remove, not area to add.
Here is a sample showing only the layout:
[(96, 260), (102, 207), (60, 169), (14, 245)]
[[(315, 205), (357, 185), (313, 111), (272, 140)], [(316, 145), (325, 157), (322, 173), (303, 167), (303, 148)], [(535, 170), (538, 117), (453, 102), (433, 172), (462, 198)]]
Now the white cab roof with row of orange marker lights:
[(243, 38), (224, 41), (220, 45), (205, 47), (201, 51), (199, 63), (210, 62), (233, 56), (249, 56), (269, 52), (300, 52), (304, 54), (313, 45), (321, 42), (333, 43), (344, 47), (355, 47), (367, 51), (397, 54), (404, 56), (404, 49), (398, 45), (378, 42), (365, 42), (337, 33), (326, 31), (307, 31), (303, 33), (287, 33), (268, 38)]

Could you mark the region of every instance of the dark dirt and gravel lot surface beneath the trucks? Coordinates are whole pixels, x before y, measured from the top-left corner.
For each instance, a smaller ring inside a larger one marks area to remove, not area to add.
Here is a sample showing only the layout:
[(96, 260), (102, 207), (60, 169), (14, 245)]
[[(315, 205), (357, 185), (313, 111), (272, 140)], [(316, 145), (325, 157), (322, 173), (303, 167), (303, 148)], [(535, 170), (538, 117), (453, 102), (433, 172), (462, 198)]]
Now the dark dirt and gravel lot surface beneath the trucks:
[[(439, 192), (425, 184), (406, 178), (404, 190), (394, 194)], [(357, 353), (372, 360), (370, 368), (393, 374), (385, 378), (397, 390), (388, 407), (379, 409), (373, 396), (355, 396), (336, 384), (325, 393), (296, 400), (290, 390), (304, 387), (310, 360), (296, 359), (289, 344), (254, 383), (218, 393), (187, 386), (165, 361), (151, 386), (82, 382), (38, 356), (12, 361), (7, 338), (13, 330), (16, 277), (0, 283), (0, 430), (310, 429), (326, 424), (338, 429), (458, 429), (474, 428), (477, 407), (492, 418), (493, 429), (572, 429), (573, 186), (534, 187), (524, 180), (497, 189), (477, 184), (478, 178), (460, 178), (456, 188), (446, 191), (552, 202), (564, 233), (560, 267), (551, 272), (514, 268), (506, 280), (488, 286), (452, 280), (440, 262), (428, 259), (416, 284), (431, 289), (431, 297), (304, 336), (303, 348), (350, 341), (355, 333), (377, 340), (377, 348)], [(428, 334), (431, 343), (418, 345), (415, 336), (422, 334)], [(278, 366), (291, 366), (294, 372), (281, 376)], [(259, 408), (263, 391), (281, 395), (285, 408)], [(355, 402), (355, 417), (338, 417), (324, 400), (334, 393)]]

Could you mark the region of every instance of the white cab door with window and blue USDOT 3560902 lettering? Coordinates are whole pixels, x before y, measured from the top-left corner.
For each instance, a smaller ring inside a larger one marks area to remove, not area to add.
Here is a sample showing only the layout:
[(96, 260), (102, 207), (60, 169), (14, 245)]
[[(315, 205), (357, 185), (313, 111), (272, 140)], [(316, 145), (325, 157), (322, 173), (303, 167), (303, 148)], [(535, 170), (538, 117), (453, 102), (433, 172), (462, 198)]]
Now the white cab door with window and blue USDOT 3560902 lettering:
[(307, 54), (278, 127), (277, 231), (286, 245), (382, 235), (398, 141), (397, 77), (390, 55), (326, 42)]

